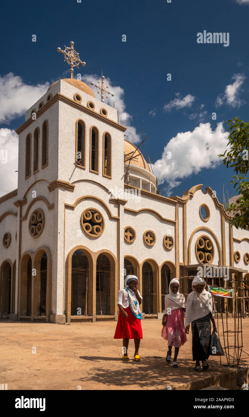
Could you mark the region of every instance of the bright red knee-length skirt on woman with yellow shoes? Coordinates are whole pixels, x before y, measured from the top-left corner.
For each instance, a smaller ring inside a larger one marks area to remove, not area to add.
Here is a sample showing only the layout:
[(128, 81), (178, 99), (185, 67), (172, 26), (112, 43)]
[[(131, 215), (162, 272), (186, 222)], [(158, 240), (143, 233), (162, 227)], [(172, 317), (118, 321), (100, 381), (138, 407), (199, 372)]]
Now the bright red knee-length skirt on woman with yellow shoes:
[(128, 317), (123, 317), (119, 311), (118, 323), (113, 339), (143, 339), (141, 320), (136, 319), (130, 307), (124, 309)]

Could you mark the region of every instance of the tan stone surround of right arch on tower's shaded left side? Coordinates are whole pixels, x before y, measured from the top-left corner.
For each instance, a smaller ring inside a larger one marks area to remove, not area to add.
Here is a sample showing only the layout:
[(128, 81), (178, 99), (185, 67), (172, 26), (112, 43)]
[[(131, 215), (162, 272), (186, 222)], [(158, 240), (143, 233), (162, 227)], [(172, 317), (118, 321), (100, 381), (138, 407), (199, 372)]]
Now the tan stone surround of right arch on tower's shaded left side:
[(46, 321), (49, 322), (52, 314), (52, 256), (47, 246), (40, 246), (31, 257), (32, 269), (36, 269), (36, 279), (32, 280), (32, 316), (40, 314), (40, 262), (44, 252), (47, 255)]

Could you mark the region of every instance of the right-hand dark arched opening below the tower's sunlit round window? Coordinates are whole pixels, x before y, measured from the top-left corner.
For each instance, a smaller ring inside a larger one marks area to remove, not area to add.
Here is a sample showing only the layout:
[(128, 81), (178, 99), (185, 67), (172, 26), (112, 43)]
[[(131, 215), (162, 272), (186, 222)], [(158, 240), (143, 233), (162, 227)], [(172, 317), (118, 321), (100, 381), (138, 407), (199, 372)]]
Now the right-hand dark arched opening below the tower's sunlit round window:
[(111, 264), (106, 255), (96, 262), (96, 315), (111, 314)]

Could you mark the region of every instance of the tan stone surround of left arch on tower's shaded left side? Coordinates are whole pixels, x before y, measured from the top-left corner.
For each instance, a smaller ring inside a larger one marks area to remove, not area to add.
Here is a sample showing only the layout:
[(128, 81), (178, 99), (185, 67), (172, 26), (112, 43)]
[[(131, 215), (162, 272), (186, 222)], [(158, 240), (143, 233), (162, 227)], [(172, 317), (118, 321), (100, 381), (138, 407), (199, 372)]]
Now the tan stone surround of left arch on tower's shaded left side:
[(18, 279), (18, 318), (20, 316), (26, 316), (25, 311), (27, 311), (27, 285), (28, 285), (27, 268), (28, 268), (28, 262), (30, 259), (32, 263), (32, 258), (33, 258), (33, 252), (25, 251), (20, 259), (19, 279)]

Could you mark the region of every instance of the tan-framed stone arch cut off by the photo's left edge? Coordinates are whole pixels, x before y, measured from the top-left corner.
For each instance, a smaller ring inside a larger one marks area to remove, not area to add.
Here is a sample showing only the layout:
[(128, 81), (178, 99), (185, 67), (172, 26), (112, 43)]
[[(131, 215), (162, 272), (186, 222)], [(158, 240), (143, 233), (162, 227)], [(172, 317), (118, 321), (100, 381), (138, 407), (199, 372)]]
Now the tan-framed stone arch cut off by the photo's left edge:
[[(0, 318), (3, 313), (8, 313), (8, 294), (9, 294), (9, 271), (11, 271), (11, 295), (13, 284), (13, 263), (10, 259), (5, 259), (0, 266)], [(10, 298), (11, 313), (11, 298)]]

